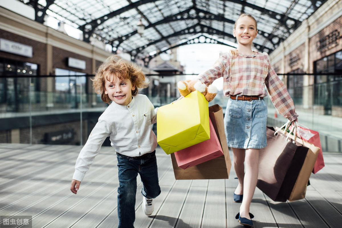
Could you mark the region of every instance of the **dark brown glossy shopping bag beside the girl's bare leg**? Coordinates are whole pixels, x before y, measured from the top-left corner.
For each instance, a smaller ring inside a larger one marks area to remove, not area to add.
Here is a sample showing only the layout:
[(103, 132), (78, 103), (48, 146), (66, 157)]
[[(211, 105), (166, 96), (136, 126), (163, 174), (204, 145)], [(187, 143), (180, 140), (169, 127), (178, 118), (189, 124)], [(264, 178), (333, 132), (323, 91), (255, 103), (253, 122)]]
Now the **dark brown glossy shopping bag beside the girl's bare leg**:
[(267, 127), (267, 146), (260, 149), (257, 187), (273, 201), (285, 202), (303, 166), (308, 148), (286, 140)]

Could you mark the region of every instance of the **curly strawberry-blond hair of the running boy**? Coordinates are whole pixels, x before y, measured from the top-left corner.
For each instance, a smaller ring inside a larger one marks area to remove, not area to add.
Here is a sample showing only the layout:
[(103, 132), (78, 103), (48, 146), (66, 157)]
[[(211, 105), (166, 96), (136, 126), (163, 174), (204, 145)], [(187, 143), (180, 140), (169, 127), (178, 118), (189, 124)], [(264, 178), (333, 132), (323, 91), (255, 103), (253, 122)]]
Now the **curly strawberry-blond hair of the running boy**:
[(140, 66), (118, 55), (111, 55), (98, 67), (95, 77), (92, 79), (94, 89), (97, 94), (101, 94), (103, 102), (111, 102), (108, 95), (105, 94), (105, 77), (109, 80), (108, 77), (114, 75), (119, 80), (131, 80), (132, 84), (135, 85), (135, 89), (132, 91), (133, 96), (139, 93), (139, 89), (148, 86), (145, 74)]

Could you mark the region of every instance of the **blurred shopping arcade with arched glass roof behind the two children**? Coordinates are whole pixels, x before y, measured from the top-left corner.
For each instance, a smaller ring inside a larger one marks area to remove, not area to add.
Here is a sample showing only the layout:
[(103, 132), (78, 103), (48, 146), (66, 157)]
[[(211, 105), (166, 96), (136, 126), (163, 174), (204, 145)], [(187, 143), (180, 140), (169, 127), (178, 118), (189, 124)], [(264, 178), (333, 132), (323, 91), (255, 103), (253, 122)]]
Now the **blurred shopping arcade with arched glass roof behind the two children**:
[[(83, 145), (108, 105), (90, 79), (111, 54), (143, 68), (141, 93), (155, 106), (172, 102), (178, 81), (236, 47), (241, 12), (257, 19), (254, 47), (269, 54), (299, 123), (341, 152), (342, 0), (2, 1), (0, 143)], [(286, 122), (266, 101), (268, 125)], [(226, 102), (221, 91), (209, 105)]]

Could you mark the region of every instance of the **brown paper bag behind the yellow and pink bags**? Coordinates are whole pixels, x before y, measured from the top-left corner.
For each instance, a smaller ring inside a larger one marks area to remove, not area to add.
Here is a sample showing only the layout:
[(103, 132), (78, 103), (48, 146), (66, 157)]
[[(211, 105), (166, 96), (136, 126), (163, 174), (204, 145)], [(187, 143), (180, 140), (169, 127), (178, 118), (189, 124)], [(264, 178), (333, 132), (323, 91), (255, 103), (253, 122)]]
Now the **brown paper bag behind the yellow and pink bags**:
[(228, 179), (232, 167), (226, 135), (224, 133), (223, 111), (218, 105), (209, 107), (209, 116), (219, 138), (224, 156), (220, 156), (196, 166), (182, 169), (178, 167), (174, 154), (170, 154), (176, 180)]

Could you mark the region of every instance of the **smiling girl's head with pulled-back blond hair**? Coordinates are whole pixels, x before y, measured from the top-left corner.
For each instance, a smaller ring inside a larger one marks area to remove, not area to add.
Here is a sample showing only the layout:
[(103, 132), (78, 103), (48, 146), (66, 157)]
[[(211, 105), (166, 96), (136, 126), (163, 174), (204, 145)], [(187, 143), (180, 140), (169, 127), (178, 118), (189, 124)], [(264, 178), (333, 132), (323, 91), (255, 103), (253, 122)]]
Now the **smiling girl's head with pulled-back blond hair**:
[(236, 37), (239, 44), (252, 45), (257, 34), (257, 25), (252, 18), (244, 16), (237, 20), (236, 27), (233, 30), (233, 35)]

